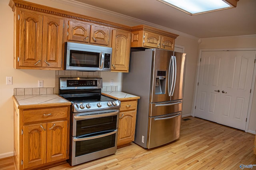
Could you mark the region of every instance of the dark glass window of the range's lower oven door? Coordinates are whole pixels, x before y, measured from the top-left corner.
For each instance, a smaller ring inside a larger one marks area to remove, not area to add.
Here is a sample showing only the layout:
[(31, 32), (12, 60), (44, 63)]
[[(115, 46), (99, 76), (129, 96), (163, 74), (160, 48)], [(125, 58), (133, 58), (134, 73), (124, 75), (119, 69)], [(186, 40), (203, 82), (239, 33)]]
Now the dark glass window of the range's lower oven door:
[(90, 139), (86, 141), (76, 141), (76, 157), (97, 152), (100, 150), (115, 147), (116, 133), (106, 137)]

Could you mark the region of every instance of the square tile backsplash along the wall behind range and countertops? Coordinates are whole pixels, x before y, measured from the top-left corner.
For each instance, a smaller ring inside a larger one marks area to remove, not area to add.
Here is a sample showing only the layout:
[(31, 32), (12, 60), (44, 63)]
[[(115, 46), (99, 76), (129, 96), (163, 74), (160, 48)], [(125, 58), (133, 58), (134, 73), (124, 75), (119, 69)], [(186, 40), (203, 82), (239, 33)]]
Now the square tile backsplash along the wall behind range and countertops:
[[(14, 95), (40, 95), (40, 94), (58, 94), (60, 77), (66, 78), (100, 78), (100, 72), (87, 71), (71, 71), (71, 70), (56, 70), (55, 71), (55, 88), (14, 88)], [(117, 91), (118, 86), (103, 86), (102, 92)]]

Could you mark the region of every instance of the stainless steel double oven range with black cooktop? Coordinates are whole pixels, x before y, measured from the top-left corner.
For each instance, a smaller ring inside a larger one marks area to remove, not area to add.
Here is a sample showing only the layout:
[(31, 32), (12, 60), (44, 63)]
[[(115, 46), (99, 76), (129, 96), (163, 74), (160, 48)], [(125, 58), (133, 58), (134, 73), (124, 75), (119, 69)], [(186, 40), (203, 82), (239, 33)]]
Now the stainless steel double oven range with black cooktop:
[(101, 78), (60, 78), (59, 95), (72, 102), (71, 166), (116, 152), (120, 101), (101, 88)]

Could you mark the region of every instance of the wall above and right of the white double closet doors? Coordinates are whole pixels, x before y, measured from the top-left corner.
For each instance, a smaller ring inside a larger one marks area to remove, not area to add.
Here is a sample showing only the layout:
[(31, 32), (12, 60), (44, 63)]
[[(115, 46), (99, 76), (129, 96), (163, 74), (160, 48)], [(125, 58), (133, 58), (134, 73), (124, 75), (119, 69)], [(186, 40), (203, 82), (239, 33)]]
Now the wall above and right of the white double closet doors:
[[(199, 49), (241, 49), (256, 48), (256, 35), (237, 36), (237, 37), (219, 37), (201, 39)], [(248, 132), (256, 131), (256, 84), (254, 86), (254, 96), (252, 99), (252, 109), (250, 112)]]

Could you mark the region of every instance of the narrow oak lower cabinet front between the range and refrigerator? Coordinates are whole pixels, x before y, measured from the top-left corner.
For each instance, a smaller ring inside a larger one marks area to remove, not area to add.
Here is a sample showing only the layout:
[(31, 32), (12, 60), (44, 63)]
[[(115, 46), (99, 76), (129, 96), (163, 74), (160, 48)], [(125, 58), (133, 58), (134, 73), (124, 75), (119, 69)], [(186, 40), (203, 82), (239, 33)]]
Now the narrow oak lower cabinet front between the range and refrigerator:
[(117, 147), (134, 141), (138, 100), (121, 101)]

